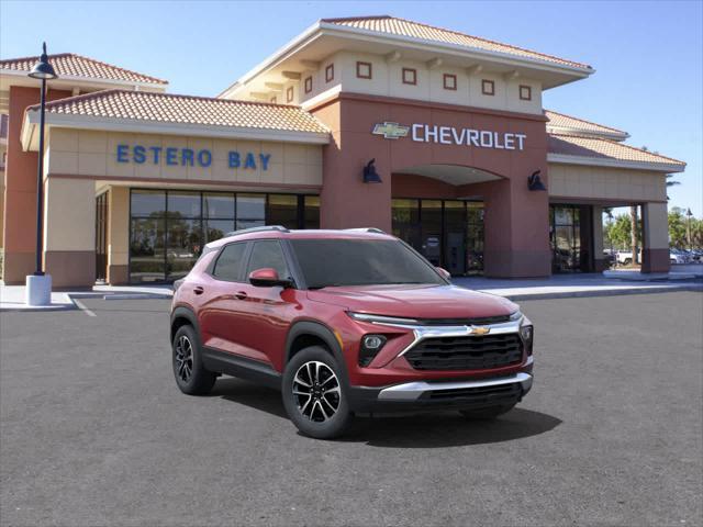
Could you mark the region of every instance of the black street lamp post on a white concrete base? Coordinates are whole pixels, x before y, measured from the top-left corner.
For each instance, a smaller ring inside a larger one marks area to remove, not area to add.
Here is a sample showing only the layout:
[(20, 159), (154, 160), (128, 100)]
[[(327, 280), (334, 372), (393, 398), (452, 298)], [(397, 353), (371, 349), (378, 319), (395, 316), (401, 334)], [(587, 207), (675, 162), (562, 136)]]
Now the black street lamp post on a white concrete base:
[(42, 99), (40, 109), (40, 150), (36, 168), (36, 267), (34, 274), (26, 277), (26, 303), (29, 305), (49, 305), (52, 303), (52, 277), (44, 273), (42, 262), (43, 226), (44, 226), (44, 115), (46, 112), (46, 81), (58, 76), (46, 55), (46, 43), (38, 61), (29, 74), (33, 79), (42, 80)]

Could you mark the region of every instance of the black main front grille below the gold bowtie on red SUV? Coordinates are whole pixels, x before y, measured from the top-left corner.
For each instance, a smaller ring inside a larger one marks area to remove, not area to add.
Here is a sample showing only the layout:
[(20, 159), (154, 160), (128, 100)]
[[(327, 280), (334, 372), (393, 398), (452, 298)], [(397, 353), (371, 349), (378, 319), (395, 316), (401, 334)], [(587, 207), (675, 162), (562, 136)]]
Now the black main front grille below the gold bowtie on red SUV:
[(484, 370), (520, 363), (523, 347), (516, 333), (482, 337), (433, 337), (405, 354), (416, 370)]

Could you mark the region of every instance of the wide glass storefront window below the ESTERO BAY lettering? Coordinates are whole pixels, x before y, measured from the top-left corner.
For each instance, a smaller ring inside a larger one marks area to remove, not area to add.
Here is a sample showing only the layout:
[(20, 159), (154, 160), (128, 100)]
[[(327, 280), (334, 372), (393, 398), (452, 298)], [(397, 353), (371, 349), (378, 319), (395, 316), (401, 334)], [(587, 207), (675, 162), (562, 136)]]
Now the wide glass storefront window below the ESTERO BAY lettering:
[(137, 283), (182, 278), (205, 244), (238, 228), (320, 227), (316, 195), (133, 189), (130, 208), (130, 281)]

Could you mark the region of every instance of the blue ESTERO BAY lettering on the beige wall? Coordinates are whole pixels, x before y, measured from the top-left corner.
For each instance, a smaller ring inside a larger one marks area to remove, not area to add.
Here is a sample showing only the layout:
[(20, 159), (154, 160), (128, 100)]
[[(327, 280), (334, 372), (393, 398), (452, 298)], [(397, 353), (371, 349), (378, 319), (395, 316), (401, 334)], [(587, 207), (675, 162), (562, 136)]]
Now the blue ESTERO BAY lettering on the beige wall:
[[(137, 165), (153, 164), (180, 167), (203, 167), (212, 165), (212, 152), (208, 148), (192, 149), (180, 147), (144, 146), (144, 145), (118, 145), (118, 162), (136, 162)], [(271, 159), (270, 154), (254, 154), (252, 152), (239, 153), (230, 150), (227, 153), (227, 166), (230, 168), (243, 168), (256, 170), (268, 170)]]

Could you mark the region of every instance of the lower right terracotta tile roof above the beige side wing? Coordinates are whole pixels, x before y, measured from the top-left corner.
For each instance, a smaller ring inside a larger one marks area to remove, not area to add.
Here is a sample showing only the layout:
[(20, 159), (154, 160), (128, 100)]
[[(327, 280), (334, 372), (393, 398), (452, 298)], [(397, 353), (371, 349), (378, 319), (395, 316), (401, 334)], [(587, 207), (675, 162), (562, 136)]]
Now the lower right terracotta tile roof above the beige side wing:
[(549, 154), (612, 159), (615, 161), (679, 165), (682, 169), (685, 167), (685, 162), (678, 159), (635, 148), (634, 146), (623, 145), (615, 141), (557, 134), (549, 134), (547, 137)]

